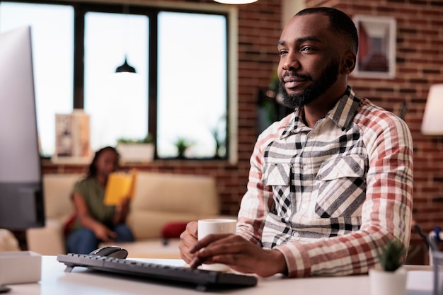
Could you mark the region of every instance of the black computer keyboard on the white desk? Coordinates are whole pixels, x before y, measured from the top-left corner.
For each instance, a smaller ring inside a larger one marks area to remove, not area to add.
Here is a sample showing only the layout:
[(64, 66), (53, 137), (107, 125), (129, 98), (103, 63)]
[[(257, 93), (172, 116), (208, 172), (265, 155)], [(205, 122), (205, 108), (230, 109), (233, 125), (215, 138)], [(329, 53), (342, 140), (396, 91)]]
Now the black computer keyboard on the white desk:
[(65, 272), (71, 272), (76, 266), (88, 267), (91, 270), (144, 277), (152, 282), (196, 287), (198, 291), (253, 287), (257, 284), (256, 277), (246, 274), (159, 265), (108, 256), (69, 253), (57, 255), (57, 260), (67, 265)]

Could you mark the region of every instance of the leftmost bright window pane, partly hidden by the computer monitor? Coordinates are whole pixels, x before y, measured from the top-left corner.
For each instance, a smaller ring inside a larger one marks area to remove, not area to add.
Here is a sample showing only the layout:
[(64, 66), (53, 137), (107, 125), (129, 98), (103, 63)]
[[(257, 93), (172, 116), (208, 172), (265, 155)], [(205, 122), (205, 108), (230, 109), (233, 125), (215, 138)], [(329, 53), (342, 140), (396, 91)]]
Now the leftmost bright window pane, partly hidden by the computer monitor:
[[(57, 23), (57, 25), (54, 25)], [(43, 156), (55, 148), (55, 115), (72, 111), (74, 8), (1, 2), (0, 33), (31, 26), (35, 100)]]

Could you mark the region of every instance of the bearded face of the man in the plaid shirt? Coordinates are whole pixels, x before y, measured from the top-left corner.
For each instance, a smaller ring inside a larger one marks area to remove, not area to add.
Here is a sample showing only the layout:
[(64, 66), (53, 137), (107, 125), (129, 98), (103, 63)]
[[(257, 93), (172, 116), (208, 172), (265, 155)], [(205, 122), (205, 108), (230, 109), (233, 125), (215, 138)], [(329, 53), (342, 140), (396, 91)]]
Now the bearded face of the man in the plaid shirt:
[(283, 103), (289, 108), (328, 96), (338, 80), (340, 41), (328, 25), (328, 17), (321, 14), (296, 16), (282, 32), (278, 76)]

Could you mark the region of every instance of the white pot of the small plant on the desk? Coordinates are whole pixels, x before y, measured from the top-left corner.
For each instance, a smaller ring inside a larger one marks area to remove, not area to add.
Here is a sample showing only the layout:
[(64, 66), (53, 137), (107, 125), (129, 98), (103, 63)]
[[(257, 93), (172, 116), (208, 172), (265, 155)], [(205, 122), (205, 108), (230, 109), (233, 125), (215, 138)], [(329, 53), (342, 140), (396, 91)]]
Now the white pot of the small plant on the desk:
[(395, 272), (369, 270), (371, 295), (405, 295), (408, 272), (403, 267)]

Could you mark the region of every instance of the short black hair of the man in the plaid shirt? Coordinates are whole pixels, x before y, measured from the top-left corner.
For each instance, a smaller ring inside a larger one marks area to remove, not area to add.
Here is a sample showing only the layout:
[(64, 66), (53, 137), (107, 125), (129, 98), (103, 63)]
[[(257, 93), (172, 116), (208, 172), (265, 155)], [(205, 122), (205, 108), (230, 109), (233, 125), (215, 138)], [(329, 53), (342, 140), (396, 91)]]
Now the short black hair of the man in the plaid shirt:
[(349, 16), (347, 16), (346, 13), (332, 7), (313, 7), (299, 11), (299, 13), (297, 13), (296, 16), (304, 16), (306, 14), (313, 14), (313, 13), (321, 13), (325, 16), (328, 16), (330, 30), (332, 30), (334, 33), (342, 35), (345, 41), (348, 43), (350, 50), (357, 53), (358, 50), (357, 28), (355, 28), (354, 22)]

